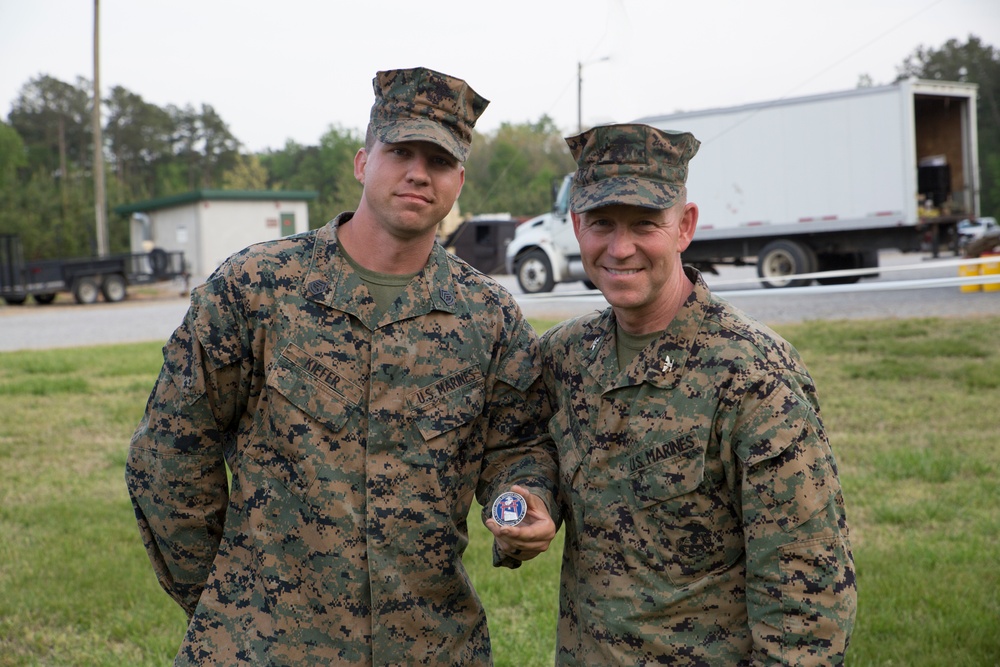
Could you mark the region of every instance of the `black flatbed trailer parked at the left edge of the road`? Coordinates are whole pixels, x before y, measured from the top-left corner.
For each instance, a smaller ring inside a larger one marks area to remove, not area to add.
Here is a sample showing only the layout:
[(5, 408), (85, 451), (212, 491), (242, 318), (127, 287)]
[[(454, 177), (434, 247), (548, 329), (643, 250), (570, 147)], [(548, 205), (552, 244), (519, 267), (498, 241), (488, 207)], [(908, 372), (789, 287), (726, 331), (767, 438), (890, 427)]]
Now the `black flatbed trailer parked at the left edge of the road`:
[(0, 234), (0, 298), (21, 305), (28, 297), (49, 304), (60, 292), (77, 303), (122, 301), (131, 285), (149, 285), (188, 277), (183, 252), (154, 248), (147, 253), (24, 261), (16, 235)]

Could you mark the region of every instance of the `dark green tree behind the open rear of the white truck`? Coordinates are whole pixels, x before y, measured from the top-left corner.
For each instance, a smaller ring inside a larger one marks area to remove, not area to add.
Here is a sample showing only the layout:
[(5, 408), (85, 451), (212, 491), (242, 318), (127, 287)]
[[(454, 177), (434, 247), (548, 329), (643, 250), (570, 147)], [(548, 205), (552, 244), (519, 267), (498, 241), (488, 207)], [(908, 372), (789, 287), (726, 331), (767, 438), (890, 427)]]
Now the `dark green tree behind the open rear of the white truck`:
[(986, 215), (1000, 213), (1000, 50), (969, 35), (965, 43), (950, 39), (939, 49), (918, 47), (897, 71), (897, 80), (916, 76), (978, 84), (980, 208)]

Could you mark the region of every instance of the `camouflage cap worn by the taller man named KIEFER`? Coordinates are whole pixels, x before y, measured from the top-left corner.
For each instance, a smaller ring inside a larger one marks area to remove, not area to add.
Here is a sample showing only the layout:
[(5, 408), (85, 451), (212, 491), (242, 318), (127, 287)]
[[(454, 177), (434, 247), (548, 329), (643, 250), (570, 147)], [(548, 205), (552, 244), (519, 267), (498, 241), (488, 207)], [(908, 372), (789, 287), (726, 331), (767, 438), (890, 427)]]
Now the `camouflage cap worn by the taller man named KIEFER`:
[(489, 100), (462, 79), (426, 67), (378, 72), (371, 129), (384, 143), (430, 141), (464, 162)]

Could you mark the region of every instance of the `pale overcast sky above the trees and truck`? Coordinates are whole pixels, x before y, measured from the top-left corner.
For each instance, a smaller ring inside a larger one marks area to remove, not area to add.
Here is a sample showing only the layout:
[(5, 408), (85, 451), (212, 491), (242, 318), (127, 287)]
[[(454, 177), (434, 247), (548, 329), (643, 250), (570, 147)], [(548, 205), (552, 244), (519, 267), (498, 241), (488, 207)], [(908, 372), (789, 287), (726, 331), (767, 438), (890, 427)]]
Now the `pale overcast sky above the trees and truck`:
[[(1000, 48), (998, 0), (102, 0), (101, 87), (209, 104), (252, 151), (364, 130), (371, 79), (426, 66), (492, 100), (478, 129), (583, 124), (889, 83), (918, 46)], [(445, 11), (441, 11), (444, 8)], [(0, 117), (92, 79), (93, 0), (0, 0)]]

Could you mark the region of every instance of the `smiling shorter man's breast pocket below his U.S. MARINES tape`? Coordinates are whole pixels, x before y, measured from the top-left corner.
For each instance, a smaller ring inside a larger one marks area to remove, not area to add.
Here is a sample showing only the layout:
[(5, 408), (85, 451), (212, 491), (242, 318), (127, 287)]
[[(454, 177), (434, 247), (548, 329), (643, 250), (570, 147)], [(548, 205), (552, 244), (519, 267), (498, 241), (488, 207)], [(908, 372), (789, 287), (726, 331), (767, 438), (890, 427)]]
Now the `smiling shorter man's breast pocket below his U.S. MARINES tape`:
[(649, 558), (677, 585), (731, 566), (743, 552), (742, 531), (729, 494), (706, 475), (704, 445), (694, 434), (643, 444), (627, 491)]

